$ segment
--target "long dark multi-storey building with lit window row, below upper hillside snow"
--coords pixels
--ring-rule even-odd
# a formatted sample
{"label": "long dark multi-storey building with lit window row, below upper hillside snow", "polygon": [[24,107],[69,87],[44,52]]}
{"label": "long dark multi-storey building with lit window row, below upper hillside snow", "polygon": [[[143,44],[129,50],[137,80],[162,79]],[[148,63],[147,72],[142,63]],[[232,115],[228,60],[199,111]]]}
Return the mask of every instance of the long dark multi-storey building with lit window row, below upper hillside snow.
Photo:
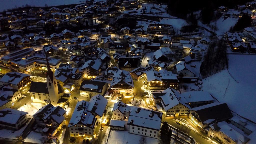
{"label": "long dark multi-storey building with lit window row, below upper hillside snow", "polygon": [[150,23],[147,27],[148,34],[170,35],[173,34],[173,26],[170,24]]}

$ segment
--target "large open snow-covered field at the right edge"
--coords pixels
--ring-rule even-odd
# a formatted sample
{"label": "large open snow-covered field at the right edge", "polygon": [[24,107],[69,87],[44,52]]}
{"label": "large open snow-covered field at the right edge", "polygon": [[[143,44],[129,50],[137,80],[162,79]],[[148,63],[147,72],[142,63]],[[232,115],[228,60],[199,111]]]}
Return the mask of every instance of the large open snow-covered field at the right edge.
{"label": "large open snow-covered field at the right edge", "polygon": [[228,70],[233,78],[228,70],[223,70],[203,79],[202,90],[208,91],[220,102],[226,102],[240,116],[256,122],[256,56],[230,54],[228,59]]}

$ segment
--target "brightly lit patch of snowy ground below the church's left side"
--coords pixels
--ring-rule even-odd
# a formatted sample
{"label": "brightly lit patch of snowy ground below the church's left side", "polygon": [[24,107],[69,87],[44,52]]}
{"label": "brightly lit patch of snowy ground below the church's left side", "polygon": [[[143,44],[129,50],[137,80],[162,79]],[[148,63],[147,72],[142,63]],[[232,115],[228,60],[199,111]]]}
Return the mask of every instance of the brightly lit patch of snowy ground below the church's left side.
{"label": "brightly lit patch of snowy ground below the church's left side", "polygon": [[28,112],[29,116],[33,116],[35,114],[35,112],[37,112],[43,106],[44,106],[43,104],[32,102],[30,104],[26,104],[26,105],[19,107],[18,110]]}

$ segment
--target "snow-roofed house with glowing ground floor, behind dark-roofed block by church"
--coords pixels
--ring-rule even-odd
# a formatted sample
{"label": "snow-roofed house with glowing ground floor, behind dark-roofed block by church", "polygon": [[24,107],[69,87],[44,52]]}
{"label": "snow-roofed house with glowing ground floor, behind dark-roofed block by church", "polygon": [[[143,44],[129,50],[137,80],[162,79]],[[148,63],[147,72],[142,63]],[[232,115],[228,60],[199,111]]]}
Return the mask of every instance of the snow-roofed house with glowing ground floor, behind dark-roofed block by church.
{"label": "snow-roofed house with glowing ground floor, behind dark-roofed block by church", "polygon": [[100,74],[101,64],[102,62],[100,59],[86,61],[84,65],[81,67],[83,75],[85,77],[96,77]]}

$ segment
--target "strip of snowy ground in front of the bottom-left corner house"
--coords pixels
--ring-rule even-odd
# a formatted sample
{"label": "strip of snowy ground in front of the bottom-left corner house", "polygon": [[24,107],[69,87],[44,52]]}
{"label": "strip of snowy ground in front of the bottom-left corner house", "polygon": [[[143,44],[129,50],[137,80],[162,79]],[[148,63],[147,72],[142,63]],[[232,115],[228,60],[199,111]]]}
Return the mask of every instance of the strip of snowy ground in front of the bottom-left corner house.
{"label": "strip of snowy ground in front of the bottom-left corner house", "polygon": [[17,131],[12,131],[12,130],[7,130],[7,129],[0,130],[0,137],[1,138],[6,138],[6,139],[17,140],[22,135],[23,131],[28,126],[28,124],[30,123],[30,121],[32,120],[33,117],[28,116],[28,118],[30,118],[30,120],[27,122],[27,124],[24,127],[17,130]]}

